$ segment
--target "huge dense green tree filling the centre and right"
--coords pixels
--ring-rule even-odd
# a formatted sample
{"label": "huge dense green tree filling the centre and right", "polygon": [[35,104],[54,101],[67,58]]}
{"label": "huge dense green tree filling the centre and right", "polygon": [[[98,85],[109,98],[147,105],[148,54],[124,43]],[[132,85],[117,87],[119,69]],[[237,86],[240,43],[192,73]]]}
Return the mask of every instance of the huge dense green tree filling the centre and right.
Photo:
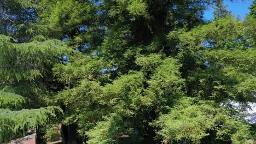
{"label": "huge dense green tree filling the centre and right", "polygon": [[[88,143],[123,142],[127,135],[135,142],[146,140],[147,135],[154,137],[154,133],[150,135],[153,128],[149,123],[167,114],[184,95],[213,100],[211,105],[226,104],[228,100],[245,104],[254,101],[250,94],[254,91],[254,79],[247,78],[254,75],[254,63],[248,62],[253,61],[255,53],[248,42],[252,38],[241,31],[246,29],[245,23],[228,16],[193,28],[196,21],[202,23],[200,11],[207,4],[210,3],[101,2],[99,19],[108,20],[100,25],[106,29],[102,44],[91,49],[90,56],[86,53],[54,68],[57,78],[67,86],[58,99],[66,103],[69,115],[63,122],[76,123],[79,135]],[[196,15],[191,20],[193,14]],[[176,20],[176,25],[167,23],[169,19]],[[239,58],[232,60],[234,56]],[[216,61],[219,57],[225,59]],[[243,64],[241,69],[245,71],[236,69],[236,63]],[[251,84],[244,87],[244,83]],[[231,115],[239,112],[231,108],[228,105],[219,111],[228,109],[232,114],[226,115],[226,119],[230,120]],[[219,119],[212,119],[212,123],[216,121]],[[230,121],[245,125],[242,131],[248,130],[241,117]],[[217,141],[216,129],[204,130],[213,131],[209,139]],[[196,141],[208,139],[205,136]],[[242,140],[247,138],[249,134]]]}

